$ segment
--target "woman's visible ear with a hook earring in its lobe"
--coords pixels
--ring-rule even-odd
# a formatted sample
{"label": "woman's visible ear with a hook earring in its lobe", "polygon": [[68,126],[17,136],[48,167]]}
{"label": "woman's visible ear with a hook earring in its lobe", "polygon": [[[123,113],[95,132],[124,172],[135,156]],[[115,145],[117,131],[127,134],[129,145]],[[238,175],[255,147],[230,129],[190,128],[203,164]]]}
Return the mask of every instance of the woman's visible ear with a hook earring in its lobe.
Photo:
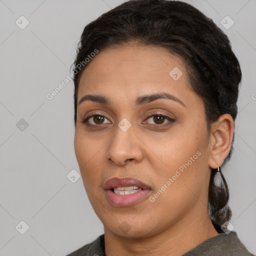
{"label": "woman's visible ear with a hook earring in its lobe", "polygon": [[234,134],[234,121],[230,114],[222,114],[211,124],[209,166],[221,166],[227,157]]}

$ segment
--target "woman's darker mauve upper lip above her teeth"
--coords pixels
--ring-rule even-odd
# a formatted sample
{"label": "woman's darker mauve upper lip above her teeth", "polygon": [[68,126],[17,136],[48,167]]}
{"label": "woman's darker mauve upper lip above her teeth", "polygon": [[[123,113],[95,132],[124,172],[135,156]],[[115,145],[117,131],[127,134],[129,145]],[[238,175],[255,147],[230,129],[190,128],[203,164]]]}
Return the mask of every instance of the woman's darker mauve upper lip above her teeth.
{"label": "woman's darker mauve upper lip above her teeth", "polygon": [[112,189],[116,187],[123,187],[123,186],[138,186],[142,189],[150,189],[149,186],[144,184],[142,181],[132,178],[132,177],[125,177],[125,178],[110,178],[105,182],[104,189]]}

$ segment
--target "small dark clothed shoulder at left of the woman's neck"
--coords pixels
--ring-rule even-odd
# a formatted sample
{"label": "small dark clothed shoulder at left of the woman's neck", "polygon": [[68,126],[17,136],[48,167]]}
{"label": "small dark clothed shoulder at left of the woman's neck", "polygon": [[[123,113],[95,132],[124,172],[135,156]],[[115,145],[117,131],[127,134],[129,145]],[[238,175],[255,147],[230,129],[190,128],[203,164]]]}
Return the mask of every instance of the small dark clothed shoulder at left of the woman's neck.
{"label": "small dark clothed shoulder at left of the woman's neck", "polygon": [[87,243],[66,256],[104,256],[104,234],[101,234],[93,242]]}

